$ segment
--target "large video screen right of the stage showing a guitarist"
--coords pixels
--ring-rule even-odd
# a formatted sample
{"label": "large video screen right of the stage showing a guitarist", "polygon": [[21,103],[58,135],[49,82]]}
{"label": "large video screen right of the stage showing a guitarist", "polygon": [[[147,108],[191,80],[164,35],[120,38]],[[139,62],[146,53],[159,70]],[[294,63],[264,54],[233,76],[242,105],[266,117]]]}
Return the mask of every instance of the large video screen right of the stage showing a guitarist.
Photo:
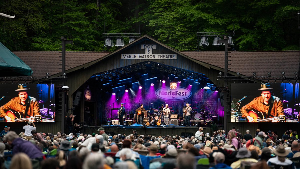
{"label": "large video screen right of the stage showing a guitarist", "polygon": [[231,122],[299,122],[299,83],[232,83]]}

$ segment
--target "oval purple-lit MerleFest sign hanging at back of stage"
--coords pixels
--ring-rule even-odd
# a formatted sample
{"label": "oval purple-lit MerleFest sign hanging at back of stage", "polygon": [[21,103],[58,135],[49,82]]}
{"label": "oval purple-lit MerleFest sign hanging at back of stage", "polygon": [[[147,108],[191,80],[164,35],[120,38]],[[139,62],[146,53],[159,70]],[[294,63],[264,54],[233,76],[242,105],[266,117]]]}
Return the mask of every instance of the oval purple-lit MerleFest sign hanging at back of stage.
{"label": "oval purple-lit MerleFest sign hanging at back of stage", "polygon": [[155,95],[164,100],[179,101],[189,98],[192,92],[184,87],[177,86],[177,89],[171,89],[170,86],[159,88],[155,91]]}

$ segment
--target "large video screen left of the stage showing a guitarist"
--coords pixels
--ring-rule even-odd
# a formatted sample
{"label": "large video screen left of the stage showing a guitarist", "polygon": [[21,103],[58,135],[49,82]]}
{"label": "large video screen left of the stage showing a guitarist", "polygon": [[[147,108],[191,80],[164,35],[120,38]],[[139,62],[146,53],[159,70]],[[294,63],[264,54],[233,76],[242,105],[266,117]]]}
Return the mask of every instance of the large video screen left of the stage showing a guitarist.
{"label": "large video screen left of the stage showing a guitarist", "polygon": [[54,122],[54,84],[0,84],[0,121]]}

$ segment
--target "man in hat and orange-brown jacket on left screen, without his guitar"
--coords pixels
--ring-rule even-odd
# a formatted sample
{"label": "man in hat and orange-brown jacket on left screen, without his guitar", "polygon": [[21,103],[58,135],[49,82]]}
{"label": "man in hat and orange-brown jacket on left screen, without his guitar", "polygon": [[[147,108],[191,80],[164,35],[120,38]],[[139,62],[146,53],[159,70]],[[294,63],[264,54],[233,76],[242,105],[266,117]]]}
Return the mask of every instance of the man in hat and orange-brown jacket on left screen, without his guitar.
{"label": "man in hat and orange-brown jacket on left screen, without his guitar", "polygon": [[26,87],[26,84],[19,84],[18,89],[16,89],[18,97],[11,99],[9,102],[0,107],[0,118],[5,118],[7,122],[12,121],[11,117],[9,117],[6,113],[7,110],[23,112],[24,115],[26,114],[26,117],[22,118],[30,118],[29,121],[31,122],[34,121],[33,116],[41,115],[38,100],[28,96],[27,90],[29,89]]}

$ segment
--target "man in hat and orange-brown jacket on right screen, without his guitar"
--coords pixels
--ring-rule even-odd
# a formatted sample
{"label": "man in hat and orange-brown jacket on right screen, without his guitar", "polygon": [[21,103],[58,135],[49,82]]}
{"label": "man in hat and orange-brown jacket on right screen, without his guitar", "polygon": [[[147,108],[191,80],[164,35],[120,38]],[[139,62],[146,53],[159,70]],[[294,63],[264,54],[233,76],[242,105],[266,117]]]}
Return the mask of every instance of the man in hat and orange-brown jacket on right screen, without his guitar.
{"label": "man in hat and orange-brown jacket on right screen, without his guitar", "polygon": [[[280,98],[272,96],[269,83],[262,83],[260,91],[261,96],[254,98],[253,101],[241,107],[242,117],[247,118],[249,122],[254,122],[254,118],[249,115],[249,110],[264,112],[266,118],[272,118],[272,122],[278,122],[277,117],[284,115],[283,103]],[[269,110],[270,109],[270,110]]]}

